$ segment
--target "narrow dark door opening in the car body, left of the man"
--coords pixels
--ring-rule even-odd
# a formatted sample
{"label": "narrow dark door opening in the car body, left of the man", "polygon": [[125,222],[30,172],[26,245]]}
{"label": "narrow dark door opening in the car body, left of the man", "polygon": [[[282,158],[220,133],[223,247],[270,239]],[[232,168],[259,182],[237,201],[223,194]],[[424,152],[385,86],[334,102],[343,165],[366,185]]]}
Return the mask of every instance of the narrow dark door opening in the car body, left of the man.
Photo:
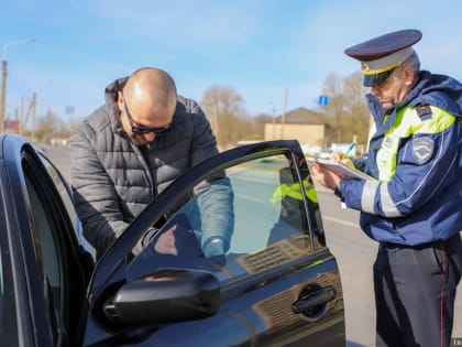
{"label": "narrow dark door opening in the car body, left of the man", "polygon": [[42,164],[43,159],[40,163],[34,154],[24,150],[23,193],[51,318],[47,325],[56,340],[67,341],[78,329],[88,284],[86,275],[90,275],[92,264],[88,252],[78,247],[74,237],[77,232],[69,219],[73,214],[69,216],[69,207],[64,206],[66,199],[72,202],[65,181],[53,165]]}

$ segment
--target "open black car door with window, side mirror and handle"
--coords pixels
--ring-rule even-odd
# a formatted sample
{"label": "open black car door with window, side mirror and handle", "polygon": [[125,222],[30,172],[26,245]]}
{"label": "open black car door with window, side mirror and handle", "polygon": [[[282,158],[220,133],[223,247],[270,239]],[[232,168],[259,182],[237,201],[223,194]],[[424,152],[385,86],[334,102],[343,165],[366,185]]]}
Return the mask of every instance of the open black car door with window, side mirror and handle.
{"label": "open black car door with window, side mirror and handle", "polygon": [[186,172],[108,250],[88,295],[82,345],[344,346],[339,269],[297,141]]}

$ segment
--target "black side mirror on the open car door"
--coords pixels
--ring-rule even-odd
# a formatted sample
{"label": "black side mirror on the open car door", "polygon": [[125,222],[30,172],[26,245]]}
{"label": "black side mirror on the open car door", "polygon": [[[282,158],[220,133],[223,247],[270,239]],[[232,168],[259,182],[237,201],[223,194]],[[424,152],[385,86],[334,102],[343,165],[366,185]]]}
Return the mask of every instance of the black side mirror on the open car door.
{"label": "black side mirror on the open car door", "polygon": [[220,282],[211,272],[164,269],[119,289],[106,316],[119,324],[170,323],[206,318],[220,308]]}

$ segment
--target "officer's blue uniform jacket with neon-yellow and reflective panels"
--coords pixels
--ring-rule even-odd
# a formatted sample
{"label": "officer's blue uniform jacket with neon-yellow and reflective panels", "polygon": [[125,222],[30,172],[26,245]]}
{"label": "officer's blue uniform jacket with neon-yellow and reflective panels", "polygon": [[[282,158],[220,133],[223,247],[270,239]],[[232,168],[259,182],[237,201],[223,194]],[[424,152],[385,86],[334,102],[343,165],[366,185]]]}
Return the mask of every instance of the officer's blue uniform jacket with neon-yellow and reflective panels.
{"label": "officer's blue uniform jacket with neon-yellow and reflective panels", "polygon": [[384,110],[367,96],[376,132],[364,171],[378,182],[342,180],[348,207],[373,239],[399,245],[446,240],[462,230],[462,85],[420,73],[404,101]]}

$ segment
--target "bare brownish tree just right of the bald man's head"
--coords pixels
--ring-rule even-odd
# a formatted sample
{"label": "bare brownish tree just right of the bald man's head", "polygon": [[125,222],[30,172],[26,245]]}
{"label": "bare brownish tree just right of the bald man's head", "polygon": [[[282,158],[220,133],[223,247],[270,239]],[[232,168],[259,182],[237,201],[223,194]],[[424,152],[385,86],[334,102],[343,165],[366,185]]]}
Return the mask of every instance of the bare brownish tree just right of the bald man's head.
{"label": "bare brownish tree just right of the bald man's head", "polygon": [[232,87],[211,86],[200,104],[221,149],[233,147],[253,133],[253,123],[243,108],[243,99]]}

